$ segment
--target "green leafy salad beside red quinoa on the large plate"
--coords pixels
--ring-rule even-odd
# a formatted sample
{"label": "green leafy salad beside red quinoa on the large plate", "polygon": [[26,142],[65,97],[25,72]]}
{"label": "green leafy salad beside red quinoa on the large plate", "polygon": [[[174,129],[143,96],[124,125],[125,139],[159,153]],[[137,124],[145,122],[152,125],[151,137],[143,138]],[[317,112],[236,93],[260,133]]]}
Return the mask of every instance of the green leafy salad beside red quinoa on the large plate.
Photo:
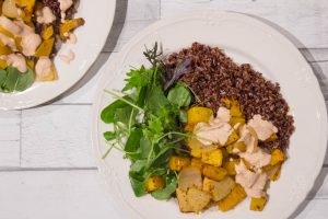
{"label": "green leafy salad beside red quinoa on the large plate", "polygon": [[105,107],[101,118],[113,125],[113,130],[104,132],[110,147],[120,150],[131,161],[129,177],[136,196],[147,194],[145,180],[160,175],[165,185],[152,192],[156,199],[168,199],[177,186],[176,173],[168,169],[173,154],[187,154],[183,132],[186,123],[185,108],[192,102],[192,92],[181,82],[165,85],[165,67],[161,61],[157,44],[147,49],[144,56],[150,68],[141,66],[131,69],[121,93],[105,91],[116,99]]}

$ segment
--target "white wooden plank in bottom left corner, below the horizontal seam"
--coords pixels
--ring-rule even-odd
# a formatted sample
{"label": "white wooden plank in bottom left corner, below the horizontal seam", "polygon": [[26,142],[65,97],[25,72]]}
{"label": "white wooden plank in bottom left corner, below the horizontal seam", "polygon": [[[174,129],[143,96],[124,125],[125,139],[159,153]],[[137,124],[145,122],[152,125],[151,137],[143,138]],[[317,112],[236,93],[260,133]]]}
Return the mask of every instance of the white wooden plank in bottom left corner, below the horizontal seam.
{"label": "white wooden plank in bottom left corner, below the horizontal seam", "polygon": [[119,218],[97,171],[0,173],[0,218]]}

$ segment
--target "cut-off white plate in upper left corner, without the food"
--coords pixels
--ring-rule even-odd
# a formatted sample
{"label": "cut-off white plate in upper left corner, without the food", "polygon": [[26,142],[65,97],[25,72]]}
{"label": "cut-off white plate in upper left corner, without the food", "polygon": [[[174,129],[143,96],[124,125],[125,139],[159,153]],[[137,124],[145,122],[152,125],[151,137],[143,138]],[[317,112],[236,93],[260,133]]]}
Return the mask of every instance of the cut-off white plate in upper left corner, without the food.
{"label": "cut-off white plate in upper left corner, without the food", "polygon": [[20,110],[46,103],[62,94],[74,85],[95,61],[107,39],[113,25],[116,0],[82,0],[75,18],[85,20],[84,26],[74,33],[78,36],[75,45],[65,44],[58,54],[67,54],[72,49],[75,59],[67,65],[58,57],[55,66],[58,80],[35,82],[24,92],[0,93],[0,110]]}

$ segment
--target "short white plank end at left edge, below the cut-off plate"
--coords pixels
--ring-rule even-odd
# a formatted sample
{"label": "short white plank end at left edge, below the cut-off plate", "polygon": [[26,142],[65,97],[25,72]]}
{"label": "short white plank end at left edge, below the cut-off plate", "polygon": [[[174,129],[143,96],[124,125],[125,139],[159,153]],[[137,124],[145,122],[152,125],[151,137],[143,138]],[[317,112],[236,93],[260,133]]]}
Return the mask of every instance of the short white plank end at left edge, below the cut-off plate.
{"label": "short white plank end at left edge, below the cut-off plate", "polygon": [[21,112],[0,111],[0,168],[20,166]]}

